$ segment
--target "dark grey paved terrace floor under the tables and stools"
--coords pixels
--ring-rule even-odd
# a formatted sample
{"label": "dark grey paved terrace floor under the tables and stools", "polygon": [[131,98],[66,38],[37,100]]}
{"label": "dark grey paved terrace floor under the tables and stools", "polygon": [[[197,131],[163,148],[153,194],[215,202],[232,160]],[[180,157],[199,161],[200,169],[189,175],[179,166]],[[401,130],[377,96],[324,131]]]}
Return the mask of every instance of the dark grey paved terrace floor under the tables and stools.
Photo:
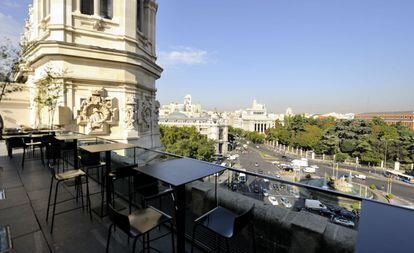
{"label": "dark grey paved terrace floor under the tables and stools", "polygon": [[[6,153],[5,143],[0,141],[0,190],[5,189],[6,199],[0,200],[0,227],[10,226],[13,248],[10,252],[105,252],[106,238],[110,222],[93,215],[93,221],[82,209],[67,212],[55,217],[53,235],[50,234],[50,219],[46,223],[47,200],[51,175],[43,167],[39,154],[27,159],[21,169],[21,152],[15,151],[13,159]],[[90,183],[90,191],[96,192],[99,186]],[[72,198],[74,187],[60,184],[58,201]],[[92,207],[100,204],[100,195],[91,196]],[[68,201],[57,206],[57,212],[71,209],[76,202]],[[164,228],[162,229],[164,230]],[[155,229],[151,237],[163,233]],[[131,241],[132,242],[132,241]],[[172,252],[170,236],[152,242],[151,246],[161,252]],[[142,249],[138,243],[137,252]],[[187,245],[190,249],[190,245]],[[127,236],[117,230],[112,234],[110,252],[131,252],[132,243]]]}

